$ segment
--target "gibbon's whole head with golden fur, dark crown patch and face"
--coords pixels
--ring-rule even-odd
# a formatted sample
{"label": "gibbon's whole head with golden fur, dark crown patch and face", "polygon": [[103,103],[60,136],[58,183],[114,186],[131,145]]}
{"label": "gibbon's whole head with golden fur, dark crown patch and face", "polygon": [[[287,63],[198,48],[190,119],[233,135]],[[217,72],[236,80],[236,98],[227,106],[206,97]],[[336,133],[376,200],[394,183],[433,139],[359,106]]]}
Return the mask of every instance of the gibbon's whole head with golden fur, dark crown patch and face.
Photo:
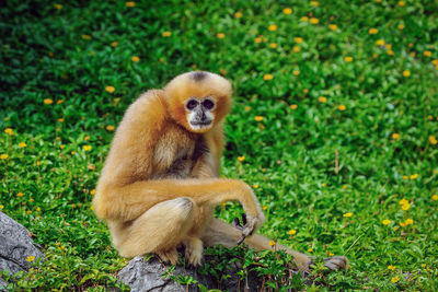
{"label": "gibbon's whole head with golden fur, dark crown patch and face", "polygon": [[192,132],[206,132],[223,119],[231,108],[231,84],[205,71],[175,77],[164,86],[172,118]]}

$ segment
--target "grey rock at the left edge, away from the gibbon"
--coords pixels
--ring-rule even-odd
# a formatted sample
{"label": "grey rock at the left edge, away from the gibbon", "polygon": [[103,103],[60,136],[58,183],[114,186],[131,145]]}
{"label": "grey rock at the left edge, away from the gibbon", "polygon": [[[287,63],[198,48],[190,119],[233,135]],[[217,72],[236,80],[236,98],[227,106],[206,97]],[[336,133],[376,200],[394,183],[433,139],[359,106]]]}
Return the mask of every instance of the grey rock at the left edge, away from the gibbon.
{"label": "grey rock at the left edge, away from the gibbon", "polygon": [[[43,253],[33,244],[28,231],[13,219],[0,212],[0,271],[14,275],[18,271],[27,271],[31,262],[26,259],[33,256],[34,261],[44,257]],[[0,290],[4,287],[0,279]]]}

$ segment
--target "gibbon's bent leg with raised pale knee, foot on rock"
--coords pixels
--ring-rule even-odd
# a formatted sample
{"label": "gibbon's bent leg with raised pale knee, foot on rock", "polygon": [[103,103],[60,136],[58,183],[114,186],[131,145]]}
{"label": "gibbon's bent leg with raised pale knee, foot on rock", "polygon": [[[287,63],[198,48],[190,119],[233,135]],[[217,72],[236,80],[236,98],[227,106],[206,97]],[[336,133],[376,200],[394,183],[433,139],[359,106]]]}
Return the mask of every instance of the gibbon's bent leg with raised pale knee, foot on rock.
{"label": "gibbon's bent leg with raised pale knee, foot on rock", "polygon": [[[175,265],[176,246],[186,238],[195,209],[192,199],[177,198],[157,203],[130,223],[110,221],[113,245],[124,257],[155,253]],[[189,243],[196,245],[195,240]]]}

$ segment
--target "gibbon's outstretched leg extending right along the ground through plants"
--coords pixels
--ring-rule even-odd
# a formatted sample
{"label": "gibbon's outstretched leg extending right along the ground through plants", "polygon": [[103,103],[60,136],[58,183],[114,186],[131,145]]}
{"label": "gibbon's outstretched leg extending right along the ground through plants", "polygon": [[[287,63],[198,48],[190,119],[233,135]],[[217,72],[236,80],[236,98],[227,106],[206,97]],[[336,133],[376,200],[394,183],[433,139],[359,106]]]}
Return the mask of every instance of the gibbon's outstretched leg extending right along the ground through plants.
{"label": "gibbon's outstretched leg extending right along the ground through plants", "polygon": [[[206,246],[214,246],[216,244],[221,244],[226,247],[234,247],[242,232],[237,227],[219,220],[214,219],[211,223],[205,230],[201,240]],[[275,247],[269,245],[269,238],[262,236],[260,234],[254,234],[251,237],[246,237],[245,243],[254,249],[269,249],[278,250],[283,249],[286,253],[293,256],[293,261],[300,270],[307,270],[309,265],[312,264],[312,257],[301,254],[299,252],[292,250],[284,245],[276,244]],[[345,257],[332,257],[325,259],[325,266],[332,270],[345,269],[348,267],[348,261]]]}

